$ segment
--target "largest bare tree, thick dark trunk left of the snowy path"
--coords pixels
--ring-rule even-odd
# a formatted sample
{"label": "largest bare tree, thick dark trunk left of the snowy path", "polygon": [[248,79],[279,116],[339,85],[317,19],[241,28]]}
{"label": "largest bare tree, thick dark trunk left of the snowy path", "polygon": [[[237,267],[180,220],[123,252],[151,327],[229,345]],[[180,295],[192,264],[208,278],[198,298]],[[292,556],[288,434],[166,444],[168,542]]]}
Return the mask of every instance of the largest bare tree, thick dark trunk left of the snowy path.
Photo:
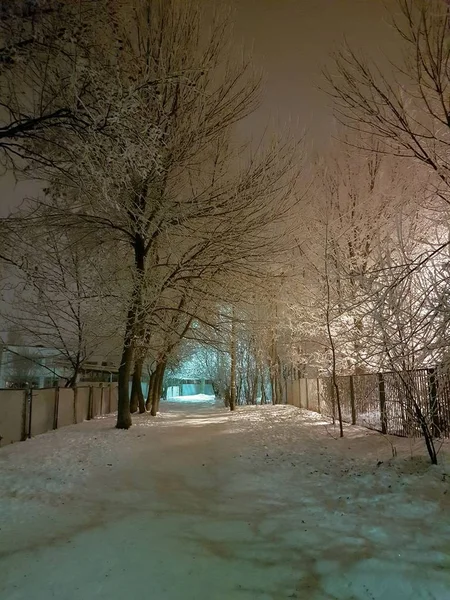
{"label": "largest bare tree, thick dark trunk left of the snowy path", "polygon": [[69,178],[54,174],[47,213],[56,225],[63,217],[66,225],[103,231],[129,266],[122,428],[131,424],[128,381],[141,321],[162,291],[218,271],[251,271],[268,245],[264,228],[274,231],[293,202],[287,149],[272,145],[244,161],[229,141],[231,126],[255,105],[258,83],[245,63],[224,60],[227,21],[217,19],[204,36],[195,4],[134,6],[126,15],[111,9],[110,37],[102,39],[106,47],[122,44],[109,78],[107,68],[90,71],[108,99],[108,123],[88,138],[71,135],[77,159]]}

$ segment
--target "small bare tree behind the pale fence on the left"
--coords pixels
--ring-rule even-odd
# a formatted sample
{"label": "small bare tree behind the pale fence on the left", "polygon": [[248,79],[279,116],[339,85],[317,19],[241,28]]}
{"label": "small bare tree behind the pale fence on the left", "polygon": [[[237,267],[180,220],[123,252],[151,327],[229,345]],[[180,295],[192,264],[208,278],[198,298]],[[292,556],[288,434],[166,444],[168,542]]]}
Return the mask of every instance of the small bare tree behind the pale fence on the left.
{"label": "small bare tree behind the pale fence on the left", "polygon": [[20,264],[11,271],[3,318],[29,345],[53,349],[54,359],[70,369],[67,386],[73,387],[92,356],[117,353],[110,257],[64,230],[21,227],[20,233]]}

